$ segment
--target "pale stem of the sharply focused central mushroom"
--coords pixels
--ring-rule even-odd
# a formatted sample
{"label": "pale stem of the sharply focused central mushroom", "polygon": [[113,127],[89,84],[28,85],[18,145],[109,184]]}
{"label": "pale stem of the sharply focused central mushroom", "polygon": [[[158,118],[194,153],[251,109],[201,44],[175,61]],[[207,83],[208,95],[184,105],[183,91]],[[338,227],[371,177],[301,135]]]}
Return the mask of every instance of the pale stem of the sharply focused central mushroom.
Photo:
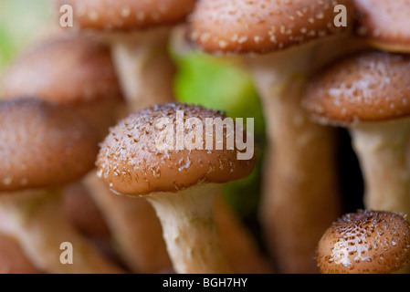
{"label": "pale stem of the sharply focused central mushroom", "polygon": [[220,184],[205,183],[178,193],[148,196],[163,224],[163,238],[176,273],[232,273],[221,248],[214,216],[220,188]]}

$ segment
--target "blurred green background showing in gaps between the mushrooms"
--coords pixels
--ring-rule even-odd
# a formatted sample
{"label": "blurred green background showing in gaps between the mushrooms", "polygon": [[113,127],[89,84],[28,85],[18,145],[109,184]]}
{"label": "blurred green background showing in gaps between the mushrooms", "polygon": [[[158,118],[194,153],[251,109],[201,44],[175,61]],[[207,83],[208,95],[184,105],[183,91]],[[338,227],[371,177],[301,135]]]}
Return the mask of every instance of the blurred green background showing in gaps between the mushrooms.
{"label": "blurred green background showing in gaps between the mushrooms", "polygon": [[[18,54],[57,17],[52,0],[0,0],[0,77]],[[54,24],[53,24],[54,25]],[[179,100],[225,110],[232,118],[255,118],[258,166],[245,180],[226,186],[226,197],[244,220],[256,219],[260,193],[265,125],[258,94],[247,73],[236,61],[199,52],[173,52],[178,65],[175,91]]]}

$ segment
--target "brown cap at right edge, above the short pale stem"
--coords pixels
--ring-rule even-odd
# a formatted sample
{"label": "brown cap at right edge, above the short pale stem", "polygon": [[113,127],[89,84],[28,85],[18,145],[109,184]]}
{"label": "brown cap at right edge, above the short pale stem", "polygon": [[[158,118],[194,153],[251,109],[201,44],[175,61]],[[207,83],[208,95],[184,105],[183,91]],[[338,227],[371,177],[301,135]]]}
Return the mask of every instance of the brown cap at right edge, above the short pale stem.
{"label": "brown cap at right edge, above the short pale stem", "polygon": [[325,123],[394,120],[410,115],[410,56],[362,52],[313,78],[304,104]]}

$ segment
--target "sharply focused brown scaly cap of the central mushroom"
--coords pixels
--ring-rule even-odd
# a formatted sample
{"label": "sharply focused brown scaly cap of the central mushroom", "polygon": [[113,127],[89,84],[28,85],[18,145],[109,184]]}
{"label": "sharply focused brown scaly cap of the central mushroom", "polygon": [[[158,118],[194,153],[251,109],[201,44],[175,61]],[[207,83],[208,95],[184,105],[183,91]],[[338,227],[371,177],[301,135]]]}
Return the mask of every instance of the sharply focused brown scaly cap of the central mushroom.
{"label": "sharply focused brown scaly cap of the central mushroom", "polygon": [[[168,103],[121,120],[102,142],[97,159],[99,175],[113,191],[130,195],[177,192],[197,183],[230,182],[252,172],[255,155],[251,160],[237,160],[237,150],[226,147],[213,151],[205,150],[205,146],[204,150],[159,150],[156,140],[163,129],[157,129],[157,121],[169,118],[175,125],[178,110],[184,111],[184,121],[189,118],[203,121],[204,135],[206,118],[225,118],[218,111],[200,106]],[[175,133],[176,127],[173,128]],[[185,129],[185,137],[193,129]]]}

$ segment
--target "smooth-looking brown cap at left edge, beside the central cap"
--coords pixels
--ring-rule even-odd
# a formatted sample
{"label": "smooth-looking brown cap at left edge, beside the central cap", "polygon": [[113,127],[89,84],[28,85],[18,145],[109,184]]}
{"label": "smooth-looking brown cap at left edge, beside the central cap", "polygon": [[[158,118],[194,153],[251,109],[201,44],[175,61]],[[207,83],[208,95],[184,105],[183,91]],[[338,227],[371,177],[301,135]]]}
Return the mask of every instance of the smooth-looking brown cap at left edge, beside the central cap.
{"label": "smooth-looking brown cap at left edge, beside the central cap", "polygon": [[38,99],[0,102],[0,192],[74,182],[97,152],[94,128],[76,112]]}

